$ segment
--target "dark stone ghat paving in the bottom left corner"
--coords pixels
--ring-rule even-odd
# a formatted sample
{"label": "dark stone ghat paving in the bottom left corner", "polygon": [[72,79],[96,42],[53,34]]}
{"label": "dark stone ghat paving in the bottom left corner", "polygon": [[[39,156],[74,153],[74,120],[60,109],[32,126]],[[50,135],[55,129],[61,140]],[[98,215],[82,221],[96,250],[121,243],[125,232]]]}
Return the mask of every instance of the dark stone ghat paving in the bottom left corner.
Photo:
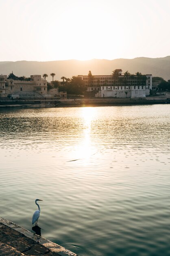
{"label": "dark stone ghat paving in the bottom left corner", "polygon": [[0,218],[0,256],[77,256],[13,222]]}

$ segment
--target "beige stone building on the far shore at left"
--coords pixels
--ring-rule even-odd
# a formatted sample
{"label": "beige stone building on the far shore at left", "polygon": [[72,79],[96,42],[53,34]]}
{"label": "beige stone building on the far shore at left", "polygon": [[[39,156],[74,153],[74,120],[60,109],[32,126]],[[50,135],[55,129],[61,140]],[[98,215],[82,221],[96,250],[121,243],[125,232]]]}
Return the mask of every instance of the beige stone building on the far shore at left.
{"label": "beige stone building on the far shore at left", "polygon": [[39,97],[47,94],[47,81],[41,75],[32,75],[29,81],[19,80],[13,72],[8,77],[0,75],[0,97],[20,97],[29,93]]}

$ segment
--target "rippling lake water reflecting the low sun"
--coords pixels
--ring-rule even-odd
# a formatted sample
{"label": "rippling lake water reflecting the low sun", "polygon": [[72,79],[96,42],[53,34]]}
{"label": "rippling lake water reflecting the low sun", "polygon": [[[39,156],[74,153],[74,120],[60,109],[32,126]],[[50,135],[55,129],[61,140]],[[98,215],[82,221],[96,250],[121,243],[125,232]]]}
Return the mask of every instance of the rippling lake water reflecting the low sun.
{"label": "rippling lake water reflecting the low sun", "polygon": [[170,105],[0,109],[0,216],[81,256],[170,255]]}

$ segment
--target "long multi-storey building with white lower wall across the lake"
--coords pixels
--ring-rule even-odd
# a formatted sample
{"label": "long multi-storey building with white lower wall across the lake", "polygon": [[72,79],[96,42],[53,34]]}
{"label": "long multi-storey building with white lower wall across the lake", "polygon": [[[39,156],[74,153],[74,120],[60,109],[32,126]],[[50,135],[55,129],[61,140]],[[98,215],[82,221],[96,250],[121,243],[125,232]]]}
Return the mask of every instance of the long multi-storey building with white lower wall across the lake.
{"label": "long multi-storey building with white lower wall across the lake", "polygon": [[[115,97],[115,98],[135,98],[146,97],[152,89],[152,75],[142,75],[137,73],[123,74],[122,70],[117,70],[118,76],[95,75],[89,84],[88,75],[78,75],[85,83],[87,91],[98,91],[95,97]],[[93,83],[93,85],[92,85]]]}

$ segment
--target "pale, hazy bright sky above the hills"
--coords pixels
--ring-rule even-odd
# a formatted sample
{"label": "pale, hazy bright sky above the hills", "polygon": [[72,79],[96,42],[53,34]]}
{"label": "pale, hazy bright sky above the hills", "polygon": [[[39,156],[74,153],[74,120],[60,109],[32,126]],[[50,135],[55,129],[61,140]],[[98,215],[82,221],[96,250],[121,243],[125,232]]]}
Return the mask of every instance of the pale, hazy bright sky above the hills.
{"label": "pale, hazy bright sky above the hills", "polygon": [[0,61],[170,55],[170,0],[0,0]]}

